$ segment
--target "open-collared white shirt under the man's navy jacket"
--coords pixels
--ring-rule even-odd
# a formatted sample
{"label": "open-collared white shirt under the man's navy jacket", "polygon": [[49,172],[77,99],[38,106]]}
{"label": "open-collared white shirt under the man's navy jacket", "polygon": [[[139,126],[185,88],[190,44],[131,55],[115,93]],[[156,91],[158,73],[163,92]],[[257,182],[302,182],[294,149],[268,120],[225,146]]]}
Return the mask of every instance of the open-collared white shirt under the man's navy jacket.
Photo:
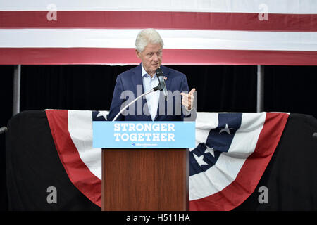
{"label": "open-collared white shirt under the man's navy jacket", "polygon": [[[159,85],[159,79],[156,78],[156,74],[154,74],[153,77],[147,74],[147,71],[144,70],[143,68],[143,63],[142,65],[142,81],[143,81],[143,88],[144,88],[144,93],[153,89],[154,87]],[[147,106],[149,108],[149,113],[151,115],[152,120],[154,121],[156,113],[157,113],[157,108],[159,107],[159,99],[160,99],[160,91],[154,91],[151,92],[150,94],[147,94],[145,96],[147,99]]]}

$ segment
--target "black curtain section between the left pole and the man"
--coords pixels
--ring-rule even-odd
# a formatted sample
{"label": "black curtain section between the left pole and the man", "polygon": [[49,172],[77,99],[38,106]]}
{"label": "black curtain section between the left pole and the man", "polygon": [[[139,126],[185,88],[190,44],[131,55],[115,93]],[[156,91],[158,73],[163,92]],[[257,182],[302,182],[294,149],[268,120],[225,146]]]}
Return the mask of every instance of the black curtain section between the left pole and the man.
{"label": "black curtain section between the left pole and the man", "polygon": [[132,68],[109,65],[23,65],[21,111],[108,110],[116,74]]}

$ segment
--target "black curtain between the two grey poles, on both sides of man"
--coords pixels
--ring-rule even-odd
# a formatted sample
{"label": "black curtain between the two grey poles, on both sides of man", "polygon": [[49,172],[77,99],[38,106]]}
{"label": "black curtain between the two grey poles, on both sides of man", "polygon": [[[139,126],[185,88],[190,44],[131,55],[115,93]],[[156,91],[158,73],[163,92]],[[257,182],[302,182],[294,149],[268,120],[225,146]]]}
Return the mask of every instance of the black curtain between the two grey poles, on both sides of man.
{"label": "black curtain between the two grey poles, on both sides of man", "polygon": [[[23,65],[21,110],[109,110],[116,77],[134,65]],[[197,110],[255,112],[256,66],[170,65],[197,89]]]}

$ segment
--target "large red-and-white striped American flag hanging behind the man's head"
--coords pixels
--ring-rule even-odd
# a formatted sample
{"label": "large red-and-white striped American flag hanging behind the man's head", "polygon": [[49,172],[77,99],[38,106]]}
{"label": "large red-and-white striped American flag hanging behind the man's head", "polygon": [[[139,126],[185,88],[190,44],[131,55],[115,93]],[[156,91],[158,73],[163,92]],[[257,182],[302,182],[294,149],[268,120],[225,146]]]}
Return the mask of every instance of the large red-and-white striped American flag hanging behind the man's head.
{"label": "large red-and-white striped American flag hanging behind the man's head", "polygon": [[1,0],[0,64],[137,64],[149,27],[163,64],[317,64],[315,0]]}

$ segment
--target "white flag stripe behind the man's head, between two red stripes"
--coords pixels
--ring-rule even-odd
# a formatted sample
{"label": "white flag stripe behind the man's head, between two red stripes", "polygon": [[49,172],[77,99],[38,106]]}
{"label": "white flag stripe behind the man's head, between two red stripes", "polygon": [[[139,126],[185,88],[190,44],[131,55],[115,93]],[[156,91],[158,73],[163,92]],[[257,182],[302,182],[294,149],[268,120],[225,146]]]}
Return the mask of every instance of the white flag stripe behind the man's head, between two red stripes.
{"label": "white flag stripe behind the man's head, between two red stripes", "polygon": [[[158,30],[165,49],[317,51],[317,32]],[[139,30],[0,29],[1,48],[135,48]]]}

